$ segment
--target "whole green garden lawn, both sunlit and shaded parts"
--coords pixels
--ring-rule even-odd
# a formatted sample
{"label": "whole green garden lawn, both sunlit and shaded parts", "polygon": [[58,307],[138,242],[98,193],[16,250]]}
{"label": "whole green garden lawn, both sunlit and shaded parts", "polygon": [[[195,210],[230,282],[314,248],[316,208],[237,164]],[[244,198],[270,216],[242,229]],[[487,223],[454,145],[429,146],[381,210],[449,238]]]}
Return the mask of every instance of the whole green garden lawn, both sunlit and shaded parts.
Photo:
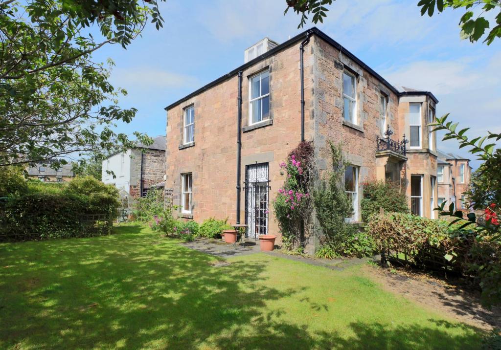
{"label": "whole green garden lawn, both sunlit and shaded parts", "polygon": [[141,226],[0,244],[0,348],[478,348],[481,333],[339,272],[215,258]]}

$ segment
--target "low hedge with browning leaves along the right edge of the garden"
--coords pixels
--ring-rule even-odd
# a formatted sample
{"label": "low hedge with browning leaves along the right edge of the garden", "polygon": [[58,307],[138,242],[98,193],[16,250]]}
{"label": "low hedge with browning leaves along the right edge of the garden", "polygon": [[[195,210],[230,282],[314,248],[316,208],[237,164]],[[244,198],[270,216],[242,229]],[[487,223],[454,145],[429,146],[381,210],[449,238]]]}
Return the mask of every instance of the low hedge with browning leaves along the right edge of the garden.
{"label": "low hedge with browning leaves along the right edge of the garden", "polygon": [[403,253],[425,269],[460,272],[481,288],[486,305],[501,304],[501,247],[461,224],[389,213],[372,215],[366,230],[379,251]]}

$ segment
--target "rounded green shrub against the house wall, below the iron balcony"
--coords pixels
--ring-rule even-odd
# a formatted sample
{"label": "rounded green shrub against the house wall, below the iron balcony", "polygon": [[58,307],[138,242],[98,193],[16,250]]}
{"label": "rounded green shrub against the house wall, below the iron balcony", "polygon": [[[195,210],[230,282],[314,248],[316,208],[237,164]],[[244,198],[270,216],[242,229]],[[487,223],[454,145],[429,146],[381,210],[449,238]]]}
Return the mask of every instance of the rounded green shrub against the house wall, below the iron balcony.
{"label": "rounded green shrub against the house wall, below the iron balcony", "polygon": [[389,213],[408,213],[407,196],[397,183],[372,181],[364,184],[364,197],[360,201],[362,219],[367,221],[371,214],[383,208]]}

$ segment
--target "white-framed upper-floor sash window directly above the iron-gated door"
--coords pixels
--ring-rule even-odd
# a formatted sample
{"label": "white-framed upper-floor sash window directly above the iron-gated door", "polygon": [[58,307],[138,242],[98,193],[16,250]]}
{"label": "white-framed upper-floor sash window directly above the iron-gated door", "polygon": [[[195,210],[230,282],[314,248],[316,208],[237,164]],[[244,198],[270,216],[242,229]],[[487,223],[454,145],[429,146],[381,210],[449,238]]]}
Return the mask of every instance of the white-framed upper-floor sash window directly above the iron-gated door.
{"label": "white-framed upper-floor sash window directly above the iron-gated door", "polygon": [[249,79],[249,125],[270,119],[270,72]]}

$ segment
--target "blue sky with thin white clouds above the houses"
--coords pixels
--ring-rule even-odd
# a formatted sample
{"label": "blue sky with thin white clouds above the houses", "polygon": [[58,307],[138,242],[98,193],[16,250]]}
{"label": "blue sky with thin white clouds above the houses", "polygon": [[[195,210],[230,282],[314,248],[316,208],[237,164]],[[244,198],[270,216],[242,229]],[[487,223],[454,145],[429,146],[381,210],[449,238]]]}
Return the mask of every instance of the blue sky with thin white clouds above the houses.
{"label": "blue sky with thin white clouds above the houses", "polygon": [[[285,0],[159,3],[163,29],[148,26],[127,50],[107,46],[94,55],[99,62],[113,59],[111,82],[128,91],[120,105],[138,109],[130,124],[117,125],[119,132],[164,135],[165,106],[241,65],[243,51],[264,37],[282,43],[313,26],[298,30],[299,16],[283,15]],[[317,27],[390,83],[433,92],[437,114],[450,113],[470,128],[467,135],[501,132],[501,40],[462,41],[462,10],[421,17],[416,4],[337,0]],[[455,141],[438,147],[468,157]]]}

